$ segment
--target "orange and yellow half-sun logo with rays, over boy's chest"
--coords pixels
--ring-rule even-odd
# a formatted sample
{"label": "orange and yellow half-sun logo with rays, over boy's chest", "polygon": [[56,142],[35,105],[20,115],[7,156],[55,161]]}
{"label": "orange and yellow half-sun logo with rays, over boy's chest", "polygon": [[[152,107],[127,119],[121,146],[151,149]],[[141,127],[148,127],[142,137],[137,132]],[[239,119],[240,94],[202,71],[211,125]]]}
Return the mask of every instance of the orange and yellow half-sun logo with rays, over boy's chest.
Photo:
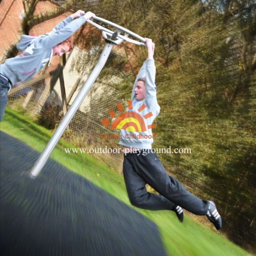
{"label": "orange and yellow half-sun logo with rays, over boy's chest", "polygon": [[[128,109],[132,110],[133,109],[133,103],[132,100],[128,100]],[[118,111],[121,112],[123,110],[123,107],[121,105],[121,103],[118,103],[117,105]],[[144,110],[146,108],[146,105],[143,104],[138,111],[141,112],[142,110]],[[109,111],[110,116],[113,118],[116,114],[114,113],[114,111],[110,110]],[[129,132],[145,132],[146,131],[146,125],[144,122],[144,119],[150,118],[152,117],[153,114],[152,112],[147,113],[146,115],[144,115],[143,117],[136,113],[136,112],[125,112],[120,114],[115,120],[114,122],[111,124],[110,126],[110,130],[112,129],[122,129],[122,130],[126,130]],[[144,119],[143,119],[144,118]],[[101,123],[103,123],[106,127],[108,127],[110,121],[106,118],[103,118],[101,120]],[[147,125],[147,129],[153,129],[155,128],[155,124],[150,124]]]}

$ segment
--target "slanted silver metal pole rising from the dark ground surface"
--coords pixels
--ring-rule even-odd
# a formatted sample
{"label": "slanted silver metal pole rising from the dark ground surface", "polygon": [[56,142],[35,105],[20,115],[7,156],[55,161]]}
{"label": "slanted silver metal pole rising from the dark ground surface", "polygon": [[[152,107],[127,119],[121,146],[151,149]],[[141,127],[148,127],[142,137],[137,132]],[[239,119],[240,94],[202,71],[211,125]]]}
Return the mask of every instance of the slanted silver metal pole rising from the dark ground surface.
{"label": "slanted silver metal pole rising from the dark ground surface", "polygon": [[106,60],[108,59],[111,50],[113,48],[114,44],[111,42],[106,42],[104,49],[102,50],[99,60],[97,64],[95,65],[92,73],[88,77],[87,81],[84,83],[81,91],[76,96],[74,102],[72,103],[69,111],[63,117],[62,121],[60,122],[59,126],[57,127],[55,133],[53,134],[52,138],[46,145],[44,151],[39,156],[38,160],[34,164],[34,166],[31,169],[30,177],[35,178],[41,169],[45,166],[50,154],[52,153],[55,145],[57,144],[58,140],[60,139],[63,132],[66,130],[67,126],[69,125],[72,117],[75,115],[76,111],[78,110],[79,106],[81,105],[83,99],[88,94],[90,88],[92,87],[93,83],[95,82],[96,78],[98,77],[100,71],[103,69]]}

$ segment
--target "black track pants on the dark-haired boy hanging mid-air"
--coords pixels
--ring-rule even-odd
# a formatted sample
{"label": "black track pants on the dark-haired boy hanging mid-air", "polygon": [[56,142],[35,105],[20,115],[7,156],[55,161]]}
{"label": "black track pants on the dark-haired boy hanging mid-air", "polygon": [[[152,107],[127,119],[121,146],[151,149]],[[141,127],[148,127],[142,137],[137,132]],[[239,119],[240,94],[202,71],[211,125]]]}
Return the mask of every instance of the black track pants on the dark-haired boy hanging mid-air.
{"label": "black track pants on the dark-haired boy hanging mid-air", "polygon": [[[171,210],[173,206],[196,215],[206,215],[208,202],[190,194],[179,181],[165,172],[155,153],[124,155],[123,176],[131,204],[148,210]],[[148,193],[145,185],[153,187],[160,195]]]}

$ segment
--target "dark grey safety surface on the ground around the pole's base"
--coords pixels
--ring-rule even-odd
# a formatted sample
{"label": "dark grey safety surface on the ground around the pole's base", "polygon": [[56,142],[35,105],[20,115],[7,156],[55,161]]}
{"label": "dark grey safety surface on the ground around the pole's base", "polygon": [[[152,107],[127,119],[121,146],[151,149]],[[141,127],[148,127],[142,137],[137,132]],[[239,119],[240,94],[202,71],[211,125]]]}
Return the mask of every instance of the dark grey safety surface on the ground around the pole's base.
{"label": "dark grey safety surface on the ground around the pole's base", "polygon": [[0,132],[1,255],[166,255],[157,226],[104,190]]}

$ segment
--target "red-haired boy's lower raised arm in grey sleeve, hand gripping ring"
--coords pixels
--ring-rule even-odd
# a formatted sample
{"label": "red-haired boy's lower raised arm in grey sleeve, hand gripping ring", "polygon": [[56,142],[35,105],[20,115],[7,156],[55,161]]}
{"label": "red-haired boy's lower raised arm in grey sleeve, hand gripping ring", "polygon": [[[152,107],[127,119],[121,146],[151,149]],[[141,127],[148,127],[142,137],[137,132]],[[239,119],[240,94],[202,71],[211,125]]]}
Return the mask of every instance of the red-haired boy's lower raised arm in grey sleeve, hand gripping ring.
{"label": "red-haired boy's lower raised arm in grey sleeve, hand gripping ring", "polygon": [[[69,38],[73,33],[75,33],[83,25],[83,23],[86,22],[87,19],[90,19],[93,16],[95,16],[95,14],[92,12],[87,12],[84,16],[81,16],[81,14],[84,13],[83,11],[78,11],[78,12],[71,14],[71,16],[69,16],[65,20],[62,20],[62,22],[66,23],[67,19],[70,19],[70,18],[72,19],[72,17],[74,18],[78,17],[78,18],[74,20],[72,19],[72,21],[67,23],[65,27],[59,30],[53,31],[53,33],[50,33],[48,36],[42,38],[41,39],[42,46],[44,46],[46,49],[53,48],[54,46],[60,44],[62,41],[65,41],[67,38]],[[59,26],[59,24],[57,26]],[[54,28],[56,28],[56,26]]]}

